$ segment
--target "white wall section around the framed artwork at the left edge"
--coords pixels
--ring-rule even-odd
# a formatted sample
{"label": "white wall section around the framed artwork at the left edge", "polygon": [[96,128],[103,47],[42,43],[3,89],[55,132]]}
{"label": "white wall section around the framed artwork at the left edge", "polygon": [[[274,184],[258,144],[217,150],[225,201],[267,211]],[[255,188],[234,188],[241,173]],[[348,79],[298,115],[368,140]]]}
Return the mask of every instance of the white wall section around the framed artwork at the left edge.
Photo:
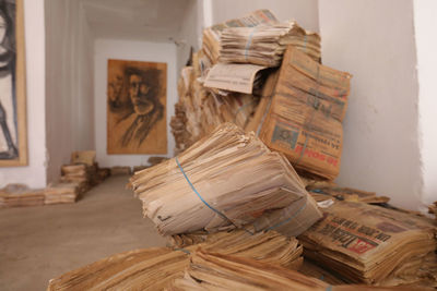
{"label": "white wall section around the framed artwork at the left edge", "polygon": [[24,183],[46,186],[45,27],[40,1],[24,0],[28,166],[1,168],[0,187]]}

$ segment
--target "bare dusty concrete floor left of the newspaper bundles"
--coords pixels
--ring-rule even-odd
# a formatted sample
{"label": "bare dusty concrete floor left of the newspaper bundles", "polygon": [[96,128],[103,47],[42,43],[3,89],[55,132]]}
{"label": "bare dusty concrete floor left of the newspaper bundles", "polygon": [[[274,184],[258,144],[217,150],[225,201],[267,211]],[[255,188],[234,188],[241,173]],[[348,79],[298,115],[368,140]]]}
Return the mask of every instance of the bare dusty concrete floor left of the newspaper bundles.
{"label": "bare dusty concrete floor left of the newspaper bundles", "polygon": [[105,256],[164,246],[127,182],[111,177],[76,204],[0,209],[0,290],[46,290],[49,279]]}

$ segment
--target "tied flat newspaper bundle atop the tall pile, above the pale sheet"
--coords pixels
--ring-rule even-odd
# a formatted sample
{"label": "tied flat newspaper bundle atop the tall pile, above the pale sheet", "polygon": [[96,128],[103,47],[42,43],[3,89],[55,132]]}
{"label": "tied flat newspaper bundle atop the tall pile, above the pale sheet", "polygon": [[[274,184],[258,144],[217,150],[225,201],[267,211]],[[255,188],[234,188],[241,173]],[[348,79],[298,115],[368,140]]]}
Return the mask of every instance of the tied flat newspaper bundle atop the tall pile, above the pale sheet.
{"label": "tied flat newspaper bundle atop the tall pile, above the pale sheet", "polygon": [[293,45],[315,61],[320,60],[319,35],[307,33],[292,21],[224,29],[221,37],[220,61],[279,66],[287,45]]}

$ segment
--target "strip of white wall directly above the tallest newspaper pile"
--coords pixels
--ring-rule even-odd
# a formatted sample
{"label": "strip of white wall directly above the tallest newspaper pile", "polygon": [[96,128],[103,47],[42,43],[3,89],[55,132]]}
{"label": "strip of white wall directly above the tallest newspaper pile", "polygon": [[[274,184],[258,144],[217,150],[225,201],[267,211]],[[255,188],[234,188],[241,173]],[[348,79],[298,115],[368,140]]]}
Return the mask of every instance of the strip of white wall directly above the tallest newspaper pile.
{"label": "strip of white wall directly above the tallest newspaper pile", "polygon": [[[280,21],[296,20],[305,29],[318,32],[317,0],[210,0],[212,22],[237,19],[258,9],[270,9]],[[209,1],[208,1],[209,2]]]}

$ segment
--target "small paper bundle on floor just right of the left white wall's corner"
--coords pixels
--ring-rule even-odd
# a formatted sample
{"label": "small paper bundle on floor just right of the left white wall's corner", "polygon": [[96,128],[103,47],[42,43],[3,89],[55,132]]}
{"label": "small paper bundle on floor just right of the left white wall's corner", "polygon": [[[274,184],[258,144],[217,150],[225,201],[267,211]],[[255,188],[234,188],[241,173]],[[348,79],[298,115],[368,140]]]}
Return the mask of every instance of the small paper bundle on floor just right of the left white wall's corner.
{"label": "small paper bundle on floor just right of the left white wall's corner", "polygon": [[45,204],[75,203],[80,195],[80,183],[50,184],[44,191]]}

